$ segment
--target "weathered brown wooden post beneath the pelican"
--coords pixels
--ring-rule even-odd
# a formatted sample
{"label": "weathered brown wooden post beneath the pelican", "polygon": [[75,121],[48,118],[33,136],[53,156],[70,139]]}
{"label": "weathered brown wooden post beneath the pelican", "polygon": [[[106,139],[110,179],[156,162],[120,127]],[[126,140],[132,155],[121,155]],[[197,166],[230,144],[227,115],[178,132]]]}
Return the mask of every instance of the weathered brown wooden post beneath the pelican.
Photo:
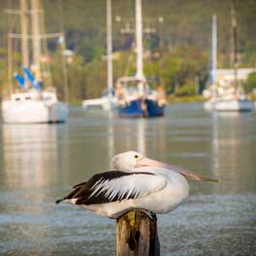
{"label": "weathered brown wooden post beneath the pelican", "polygon": [[116,220],[117,256],[158,256],[156,216],[149,218],[143,211],[128,211]]}

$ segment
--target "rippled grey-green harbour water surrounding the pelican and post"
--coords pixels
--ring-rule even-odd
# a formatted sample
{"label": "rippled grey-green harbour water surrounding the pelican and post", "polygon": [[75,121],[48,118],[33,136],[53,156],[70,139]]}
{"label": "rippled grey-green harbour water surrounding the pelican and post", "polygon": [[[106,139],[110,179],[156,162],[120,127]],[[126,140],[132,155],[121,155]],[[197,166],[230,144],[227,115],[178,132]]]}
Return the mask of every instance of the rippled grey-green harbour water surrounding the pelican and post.
{"label": "rippled grey-green harbour water surrounding the pelican and post", "polygon": [[71,110],[65,125],[0,126],[0,255],[114,255],[114,221],[54,201],[139,150],[219,184],[159,215],[162,255],[252,255],[256,234],[256,115],[176,104],[164,118],[118,119]]}

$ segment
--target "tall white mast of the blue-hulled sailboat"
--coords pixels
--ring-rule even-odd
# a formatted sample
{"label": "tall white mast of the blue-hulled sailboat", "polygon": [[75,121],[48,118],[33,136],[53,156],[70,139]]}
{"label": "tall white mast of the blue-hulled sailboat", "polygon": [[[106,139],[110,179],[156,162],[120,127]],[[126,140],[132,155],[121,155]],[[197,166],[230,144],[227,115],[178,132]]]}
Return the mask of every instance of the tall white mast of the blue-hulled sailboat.
{"label": "tall white mast of the blue-hulled sailboat", "polygon": [[137,74],[140,80],[138,89],[140,96],[144,95],[144,60],[143,60],[143,14],[142,0],[136,0],[136,47],[137,47]]}

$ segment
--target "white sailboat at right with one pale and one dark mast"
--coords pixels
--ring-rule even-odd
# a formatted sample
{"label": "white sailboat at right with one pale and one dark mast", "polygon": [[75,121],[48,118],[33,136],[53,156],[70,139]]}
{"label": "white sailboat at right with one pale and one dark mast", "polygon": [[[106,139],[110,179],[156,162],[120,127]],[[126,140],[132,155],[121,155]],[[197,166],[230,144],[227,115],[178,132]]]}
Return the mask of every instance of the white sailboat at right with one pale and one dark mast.
{"label": "white sailboat at right with one pale and one dark mast", "polygon": [[236,0],[233,0],[232,8],[232,32],[233,32],[233,80],[218,82],[216,80],[216,16],[212,17],[212,56],[211,56],[211,81],[208,92],[208,101],[204,107],[207,111],[217,112],[250,112],[254,109],[252,101],[248,100],[239,85],[238,52],[237,52],[237,18]]}

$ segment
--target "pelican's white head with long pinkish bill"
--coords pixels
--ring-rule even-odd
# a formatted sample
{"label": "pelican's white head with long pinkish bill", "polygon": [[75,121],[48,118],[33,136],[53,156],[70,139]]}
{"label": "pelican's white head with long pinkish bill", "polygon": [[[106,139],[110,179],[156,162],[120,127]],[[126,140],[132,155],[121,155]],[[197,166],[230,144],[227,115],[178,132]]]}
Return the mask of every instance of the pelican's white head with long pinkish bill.
{"label": "pelican's white head with long pinkish bill", "polygon": [[191,178],[199,181],[218,182],[217,179],[200,176],[198,174],[183,170],[179,167],[171,166],[169,164],[150,159],[136,151],[127,151],[117,154],[112,158],[112,163],[113,167],[116,170],[123,172],[135,172],[137,168],[141,167],[158,167],[168,169],[172,172],[176,172],[182,176],[185,176],[186,178]]}

